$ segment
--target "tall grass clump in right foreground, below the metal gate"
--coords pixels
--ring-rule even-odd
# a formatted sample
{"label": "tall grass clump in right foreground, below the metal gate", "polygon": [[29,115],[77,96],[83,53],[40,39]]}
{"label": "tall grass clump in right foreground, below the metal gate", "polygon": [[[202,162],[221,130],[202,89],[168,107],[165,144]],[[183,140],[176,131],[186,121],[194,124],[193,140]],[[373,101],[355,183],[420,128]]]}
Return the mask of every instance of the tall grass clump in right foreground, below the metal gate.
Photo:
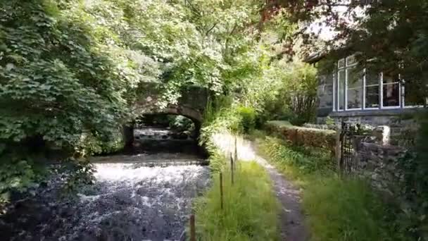
{"label": "tall grass clump in right foreground, below the metal gate", "polygon": [[318,177],[303,192],[313,240],[401,240],[386,204],[363,180]]}

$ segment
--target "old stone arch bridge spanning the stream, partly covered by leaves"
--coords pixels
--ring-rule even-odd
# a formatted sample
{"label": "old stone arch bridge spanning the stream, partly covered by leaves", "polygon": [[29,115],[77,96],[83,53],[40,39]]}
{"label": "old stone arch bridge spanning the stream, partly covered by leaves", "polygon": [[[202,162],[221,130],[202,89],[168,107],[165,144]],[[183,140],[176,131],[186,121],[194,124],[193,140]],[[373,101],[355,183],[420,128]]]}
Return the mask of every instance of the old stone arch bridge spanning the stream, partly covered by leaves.
{"label": "old stone arch bridge spanning the stream, partly covered by leaves", "polygon": [[[142,116],[146,114],[165,113],[180,115],[189,118],[194,122],[196,132],[199,132],[202,123],[203,111],[208,103],[208,89],[199,86],[189,86],[182,89],[180,98],[175,104],[168,104],[160,107],[160,89],[157,83],[148,83],[141,91],[132,106],[132,116]],[[123,140],[125,147],[132,146],[134,141],[134,120],[123,126]]]}

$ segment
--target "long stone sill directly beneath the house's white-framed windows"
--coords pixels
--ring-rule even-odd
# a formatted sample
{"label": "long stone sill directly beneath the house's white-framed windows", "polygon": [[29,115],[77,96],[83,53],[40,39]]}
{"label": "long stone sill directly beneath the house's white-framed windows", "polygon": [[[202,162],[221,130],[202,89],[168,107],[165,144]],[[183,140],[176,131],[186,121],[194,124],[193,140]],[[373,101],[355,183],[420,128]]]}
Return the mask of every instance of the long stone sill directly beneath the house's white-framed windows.
{"label": "long stone sill directly beneath the house's white-framed windows", "polygon": [[382,110],[357,110],[357,111],[334,111],[331,117],[354,117],[354,116],[398,116],[416,113],[419,108],[409,109],[382,109]]}

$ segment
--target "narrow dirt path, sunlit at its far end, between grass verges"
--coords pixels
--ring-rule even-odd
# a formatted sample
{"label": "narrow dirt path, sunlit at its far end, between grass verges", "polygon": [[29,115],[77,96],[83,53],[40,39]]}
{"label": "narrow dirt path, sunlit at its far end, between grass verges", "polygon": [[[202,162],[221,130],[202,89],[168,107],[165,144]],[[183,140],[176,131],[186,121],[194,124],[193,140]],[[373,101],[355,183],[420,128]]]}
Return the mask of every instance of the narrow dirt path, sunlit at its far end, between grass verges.
{"label": "narrow dirt path, sunlit at its far end, between grass verges", "polygon": [[[215,144],[223,152],[234,152],[235,137],[229,134],[218,134],[213,137]],[[300,191],[277,169],[270,165],[256,152],[256,145],[249,140],[237,137],[238,158],[243,161],[257,161],[266,168],[274,185],[275,193],[282,204],[281,237],[287,241],[309,240],[309,233],[305,225],[305,216],[301,208]]]}

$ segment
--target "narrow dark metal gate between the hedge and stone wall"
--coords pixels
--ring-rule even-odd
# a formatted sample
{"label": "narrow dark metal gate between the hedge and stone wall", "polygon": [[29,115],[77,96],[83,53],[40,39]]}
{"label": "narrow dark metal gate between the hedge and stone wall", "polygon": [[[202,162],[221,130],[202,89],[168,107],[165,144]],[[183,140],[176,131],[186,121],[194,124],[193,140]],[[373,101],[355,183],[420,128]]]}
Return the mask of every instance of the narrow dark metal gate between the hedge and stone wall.
{"label": "narrow dark metal gate between the hedge and stone wall", "polygon": [[341,175],[348,177],[353,173],[353,156],[355,155],[354,135],[358,126],[352,126],[342,121],[340,132],[340,158],[339,171]]}

